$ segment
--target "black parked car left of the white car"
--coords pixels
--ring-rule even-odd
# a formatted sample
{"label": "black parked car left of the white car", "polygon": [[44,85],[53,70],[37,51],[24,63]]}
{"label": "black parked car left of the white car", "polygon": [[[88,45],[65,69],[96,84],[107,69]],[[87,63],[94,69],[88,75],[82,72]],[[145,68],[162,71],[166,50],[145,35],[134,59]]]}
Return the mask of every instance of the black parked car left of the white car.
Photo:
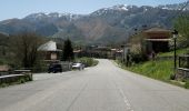
{"label": "black parked car left of the white car", "polygon": [[62,65],[60,63],[51,63],[49,65],[48,72],[51,73],[57,73],[57,72],[62,72]]}

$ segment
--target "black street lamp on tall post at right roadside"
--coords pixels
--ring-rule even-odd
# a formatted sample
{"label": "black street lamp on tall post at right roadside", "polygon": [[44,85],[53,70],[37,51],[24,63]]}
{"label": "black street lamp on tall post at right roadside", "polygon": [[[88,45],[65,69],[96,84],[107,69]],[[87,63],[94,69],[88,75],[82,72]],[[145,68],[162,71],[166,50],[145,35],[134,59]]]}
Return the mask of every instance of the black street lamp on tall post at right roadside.
{"label": "black street lamp on tall post at right roadside", "polygon": [[177,30],[173,30],[173,31],[172,31],[172,38],[173,38],[173,51],[175,51],[175,56],[173,56],[173,59],[175,59],[175,71],[176,71],[176,69],[177,69],[177,53],[176,53],[177,36],[178,36],[178,31],[177,31]]}

